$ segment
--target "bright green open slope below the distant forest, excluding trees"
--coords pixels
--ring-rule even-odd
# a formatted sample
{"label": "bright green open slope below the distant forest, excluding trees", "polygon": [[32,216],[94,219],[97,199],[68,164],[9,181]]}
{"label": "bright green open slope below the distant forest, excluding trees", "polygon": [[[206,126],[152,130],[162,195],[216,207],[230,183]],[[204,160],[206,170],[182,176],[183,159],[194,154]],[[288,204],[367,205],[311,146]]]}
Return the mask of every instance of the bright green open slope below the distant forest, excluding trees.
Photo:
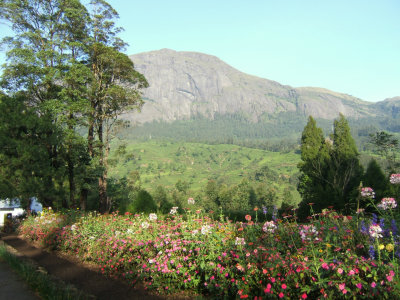
{"label": "bright green open slope below the distant forest, excluding trees", "polygon": [[182,178],[194,192],[210,179],[233,185],[243,178],[252,180],[263,166],[283,179],[275,180],[280,190],[289,185],[290,178],[296,177],[300,161],[294,152],[282,154],[230,144],[129,141],[115,144],[113,149],[111,176],[121,178],[136,170],[142,186],[149,191],[158,185],[173,187]]}

